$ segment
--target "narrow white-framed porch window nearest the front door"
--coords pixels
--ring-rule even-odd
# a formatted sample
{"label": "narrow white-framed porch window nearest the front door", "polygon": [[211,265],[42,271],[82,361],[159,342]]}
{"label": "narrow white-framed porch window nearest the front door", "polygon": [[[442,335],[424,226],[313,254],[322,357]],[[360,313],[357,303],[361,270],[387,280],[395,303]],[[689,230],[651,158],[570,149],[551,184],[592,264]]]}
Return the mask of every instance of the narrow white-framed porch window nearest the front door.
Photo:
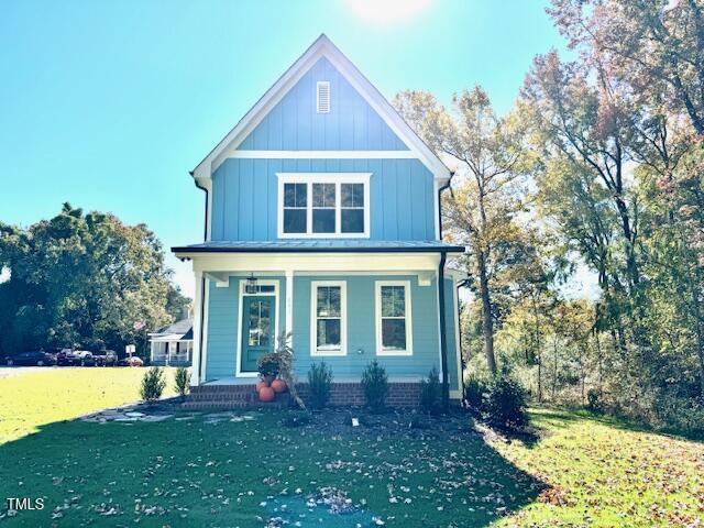
{"label": "narrow white-framed porch window nearest the front door", "polygon": [[346,355],[346,283],[310,283],[310,355]]}

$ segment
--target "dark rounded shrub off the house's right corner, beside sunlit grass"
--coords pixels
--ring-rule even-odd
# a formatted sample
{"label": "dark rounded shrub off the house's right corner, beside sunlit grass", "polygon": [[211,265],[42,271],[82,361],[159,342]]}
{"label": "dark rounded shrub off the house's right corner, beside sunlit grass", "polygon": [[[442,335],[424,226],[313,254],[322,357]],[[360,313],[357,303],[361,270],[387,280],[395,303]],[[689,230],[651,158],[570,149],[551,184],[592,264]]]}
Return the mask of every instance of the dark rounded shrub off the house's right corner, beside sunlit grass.
{"label": "dark rounded shrub off the house's right corner, beside sunlit grass", "polygon": [[490,381],[482,416],[490,426],[499,429],[520,429],[527,424],[526,392],[507,370]]}

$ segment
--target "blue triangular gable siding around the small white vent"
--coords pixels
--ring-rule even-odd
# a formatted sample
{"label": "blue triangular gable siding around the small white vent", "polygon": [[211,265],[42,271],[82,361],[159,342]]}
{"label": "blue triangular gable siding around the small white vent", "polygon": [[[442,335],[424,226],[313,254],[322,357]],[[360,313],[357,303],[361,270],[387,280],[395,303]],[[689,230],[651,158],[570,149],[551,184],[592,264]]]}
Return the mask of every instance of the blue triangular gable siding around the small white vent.
{"label": "blue triangular gable siding around the small white vent", "polygon": [[[318,113],[316,84],[330,82],[330,112]],[[257,151],[406,151],[350,82],[319,59],[239,145]]]}

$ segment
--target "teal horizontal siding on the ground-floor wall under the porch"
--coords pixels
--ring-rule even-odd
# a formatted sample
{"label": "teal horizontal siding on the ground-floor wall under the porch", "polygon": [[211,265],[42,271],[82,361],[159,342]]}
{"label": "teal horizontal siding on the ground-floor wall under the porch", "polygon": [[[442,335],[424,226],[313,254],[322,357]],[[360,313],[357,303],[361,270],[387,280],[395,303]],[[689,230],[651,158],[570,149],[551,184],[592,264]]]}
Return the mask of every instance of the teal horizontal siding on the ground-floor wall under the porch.
{"label": "teal horizontal siding on the ground-floor wall under the porch", "polygon": [[[286,328],[284,277],[266,277],[278,280],[279,332]],[[314,362],[324,361],[331,366],[338,381],[358,380],[369,362],[376,359],[393,380],[413,380],[427,376],[433,366],[440,372],[440,344],[438,334],[438,289],[433,280],[430,286],[418,286],[416,275],[340,275],[326,276],[324,280],[346,282],[348,353],[345,356],[312,356],[310,336],[310,293],[312,280],[321,277],[297,276],[294,278],[293,340],[296,353],[296,370],[300,380]],[[228,287],[209,288],[208,362],[207,380],[232,377],[235,373],[238,353],[239,277],[230,277]],[[376,355],[375,282],[408,280],[411,285],[413,355]],[[454,297],[452,280],[446,279],[446,309],[448,373],[450,387],[458,386],[455,355]],[[362,350],[363,353],[358,351]]]}

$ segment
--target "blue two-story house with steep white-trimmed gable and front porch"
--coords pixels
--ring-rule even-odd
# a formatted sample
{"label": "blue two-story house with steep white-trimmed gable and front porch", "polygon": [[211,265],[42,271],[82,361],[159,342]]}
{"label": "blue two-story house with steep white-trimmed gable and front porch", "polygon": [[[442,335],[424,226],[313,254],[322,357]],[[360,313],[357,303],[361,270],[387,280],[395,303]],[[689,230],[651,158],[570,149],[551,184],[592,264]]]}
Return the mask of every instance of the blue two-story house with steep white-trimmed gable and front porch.
{"label": "blue two-story house with steep white-trimmed gable and front porch", "polygon": [[334,403],[359,402],[372,360],[394,404],[413,405],[432,367],[461,397],[462,276],[447,262],[464,248],[440,221],[451,172],[328,37],[191,175],[205,242],[173,251],[196,276],[194,385],[253,383],[290,332],[299,380],[324,360]]}

